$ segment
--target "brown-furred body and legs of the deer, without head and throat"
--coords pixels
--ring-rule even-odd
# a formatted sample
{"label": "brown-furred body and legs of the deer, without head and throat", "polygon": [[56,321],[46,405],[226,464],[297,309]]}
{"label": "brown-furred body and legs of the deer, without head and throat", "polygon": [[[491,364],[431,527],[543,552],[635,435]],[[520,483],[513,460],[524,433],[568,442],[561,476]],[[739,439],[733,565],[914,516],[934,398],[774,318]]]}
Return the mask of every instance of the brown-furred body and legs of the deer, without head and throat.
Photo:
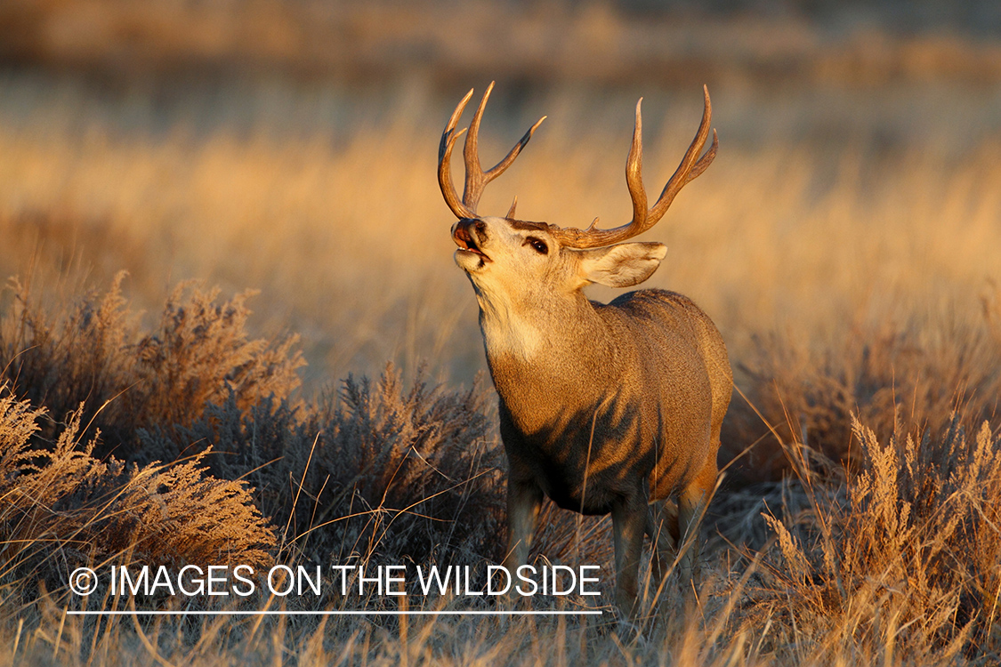
{"label": "brown-furred body and legs of the deer, without head and throat", "polygon": [[[716,327],[680,294],[642,290],[607,305],[581,295],[573,310],[548,310],[549,352],[531,363],[487,350],[511,465],[506,562],[526,562],[522,524],[534,523],[543,493],[585,514],[630,515],[616,559],[617,602],[629,613],[643,533],[657,532],[648,504],[679,497],[678,524],[666,528],[676,538],[695,529],[733,378]],[[526,508],[513,504],[526,502],[520,524]],[[689,576],[696,549],[683,561]]]}

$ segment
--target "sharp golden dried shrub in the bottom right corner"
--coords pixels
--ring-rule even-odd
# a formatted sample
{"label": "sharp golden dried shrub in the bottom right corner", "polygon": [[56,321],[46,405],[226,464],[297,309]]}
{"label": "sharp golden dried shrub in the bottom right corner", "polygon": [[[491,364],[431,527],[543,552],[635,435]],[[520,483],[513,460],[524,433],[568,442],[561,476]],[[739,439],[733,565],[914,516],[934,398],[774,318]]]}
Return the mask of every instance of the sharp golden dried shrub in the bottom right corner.
{"label": "sharp golden dried shrub in the bottom right corner", "polygon": [[1001,438],[987,423],[970,436],[961,421],[938,438],[884,444],[854,420],[860,469],[840,486],[822,485],[794,450],[810,508],[766,516],[778,539],[746,626],[778,616],[778,650],[809,646],[810,662],[838,652],[891,663],[899,651],[916,664],[996,655]]}

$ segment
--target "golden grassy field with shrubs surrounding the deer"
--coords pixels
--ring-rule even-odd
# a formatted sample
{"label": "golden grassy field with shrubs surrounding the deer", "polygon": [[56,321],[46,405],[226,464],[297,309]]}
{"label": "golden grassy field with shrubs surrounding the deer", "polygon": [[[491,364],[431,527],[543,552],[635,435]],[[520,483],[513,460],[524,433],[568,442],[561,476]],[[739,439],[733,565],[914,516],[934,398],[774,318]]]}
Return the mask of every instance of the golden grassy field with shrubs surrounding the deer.
{"label": "golden grassy field with shrubs surrounding the deer", "polygon": [[[169,5],[182,18],[198,6]],[[351,20],[378,22],[386,7]],[[615,28],[599,41],[609,53],[647,34],[611,6],[554,7],[573,19],[570,44],[595,25]],[[129,25],[149,29],[150,14],[135,16]],[[525,35],[546,24],[526,16]],[[239,59],[243,42],[222,49],[216,24],[185,37],[201,39],[192,51],[172,20],[154,22],[165,37],[151,62]],[[699,25],[750,25],[713,21]],[[715,67],[690,60],[691,74],[660,82],[578,76],[562,50],[527,80],[515,59],[484,120],[488,162],[549,116],[481,211],[503,213],[517,194],[529,219],[611,226],[630,212],[636,99],[653,190],[710,83],[720,153],[645,236],[669,248],[647,285],[693,297],[723,332],[737,385],[730,465],[698,603],[676,576],[660,595],[649,585],[639,640],[617,633],[610,605],[599,621],[67,615],[179,608],[106,587],[84,601],[67,589],[82,565],[497,562],[495,399],[435,183],[447,115],[466,81],[488,83],[476,77],[490,64],[387,76],[390,65],[369,63],[358,71],[377,81],[315,78],[339,52],[272,35],[250,76],[146,76],[140,60],[139,74],[116,78],[110,56],[79,55],[86,44],[0,71],[0,273],[15,277],[0,292],[0,665],[997,664],[996,42],[853,33],[856,50],[842,51],[816,37],[831,24],[778,24],[777,50],[735,28],[747,41],[706,56]],[[694,34],[693,52],[715,53]],[[976,57],[960,67],[943,53]],[[786,61],[796,76],[782,75]],[[540,563],[611,568],[607,520],[551,507],[537,542]],[[331,587],[191,604],[490,608]]]}

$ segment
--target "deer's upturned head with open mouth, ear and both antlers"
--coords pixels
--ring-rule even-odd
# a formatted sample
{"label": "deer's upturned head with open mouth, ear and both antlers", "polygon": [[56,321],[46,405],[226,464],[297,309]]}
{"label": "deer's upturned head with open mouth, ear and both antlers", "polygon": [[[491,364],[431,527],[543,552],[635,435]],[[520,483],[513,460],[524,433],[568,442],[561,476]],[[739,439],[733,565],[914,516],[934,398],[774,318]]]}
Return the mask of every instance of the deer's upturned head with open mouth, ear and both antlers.
{"label": "deer's upturned head with open mouth, ear and both antlers", "polygon": [[471,90],[455,107],[438,148],[438,184],[448,208],[459,219],[452,227],[452,239],[458,245],[455,263],[469,275],[477,291],[496,294],[529,290],[572,295],[590,283],[629,287],[649,278],[664,259],[667,248],[660,243],[623,242],[657,224],[682,187],[702,174],[716,157],[719,144],[715,130],[712,145],[700,157],[712,120],[708,89],[704,88],[705,110],[699,131],[661,196],[650,208],[643,185],[643,98],[637,102],[633,144],[626,161],[633,219],[614,229],[599,229],[598,218],[595,218],[588,228],[577,229],[517,219],[517,198],[503,218],[480,217],[476,213],[485,185],[511,166],[546,120],[545,116],[541,118],[500,162],[483,171],[478,155],[479,124],[492,88],[490,83],[483,93],[465,137],[462,150],[465,187],[461,199],[451,181],[449,161],[452,147],[463,132],[456,131],[455,125],[472,96]]}

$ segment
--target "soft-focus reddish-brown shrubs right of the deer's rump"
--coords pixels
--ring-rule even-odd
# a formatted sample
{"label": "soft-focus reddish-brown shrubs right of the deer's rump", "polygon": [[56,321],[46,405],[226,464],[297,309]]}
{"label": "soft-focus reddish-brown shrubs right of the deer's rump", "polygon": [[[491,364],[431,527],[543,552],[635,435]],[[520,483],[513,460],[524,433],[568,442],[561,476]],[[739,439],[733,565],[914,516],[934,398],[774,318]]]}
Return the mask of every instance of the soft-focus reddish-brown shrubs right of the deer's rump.
{"label": "soft-focus reddish-brown shrubs right of the deer's rump", "polygon": [[755,339],[739,364],[739,386],[724,423],[725,456],[758,442],[738,465],[745,479],[775,479],[786,468],[780,441],[799,441],[835,461],[863,455],[853,415],[880,438],[906,429],[939,431],[959,414],[974,428],[998,414],[1001,299],[983,299],[983,317],[939,316],[839,329],[818,345],[794,336]]}

